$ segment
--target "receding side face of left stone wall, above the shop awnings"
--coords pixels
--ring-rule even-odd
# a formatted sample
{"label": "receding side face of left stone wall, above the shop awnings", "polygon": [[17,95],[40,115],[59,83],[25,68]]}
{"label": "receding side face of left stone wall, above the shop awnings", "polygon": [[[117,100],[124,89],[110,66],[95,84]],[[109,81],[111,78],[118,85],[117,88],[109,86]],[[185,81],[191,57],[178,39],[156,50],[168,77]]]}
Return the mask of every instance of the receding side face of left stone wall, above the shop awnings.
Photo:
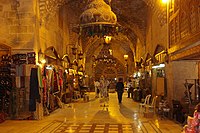
{"label": "receding side face of left stone wall, above the shop awnings", "polygon": [[44,52],[46,48],[53,46],[61,57],[66,53],[72,57],[70,23],[73,16],[69,15],[69,11],[67,7],[61,7],[55,14],[43,19],[39,26],[38,50],[41,49]]}

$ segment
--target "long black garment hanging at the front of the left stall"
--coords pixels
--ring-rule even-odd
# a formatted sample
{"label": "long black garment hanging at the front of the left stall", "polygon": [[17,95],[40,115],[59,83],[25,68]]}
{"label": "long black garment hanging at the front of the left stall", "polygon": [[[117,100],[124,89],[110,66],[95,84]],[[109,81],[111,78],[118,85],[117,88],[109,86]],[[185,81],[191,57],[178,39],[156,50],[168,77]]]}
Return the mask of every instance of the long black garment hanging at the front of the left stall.
{"label": "long black garment hanging at the front of the left stall", "polygon": [[29,111],[36,111],[36,102],[40,99],[38,68],[31,68],[30,76],[30,94],[29,94]]}

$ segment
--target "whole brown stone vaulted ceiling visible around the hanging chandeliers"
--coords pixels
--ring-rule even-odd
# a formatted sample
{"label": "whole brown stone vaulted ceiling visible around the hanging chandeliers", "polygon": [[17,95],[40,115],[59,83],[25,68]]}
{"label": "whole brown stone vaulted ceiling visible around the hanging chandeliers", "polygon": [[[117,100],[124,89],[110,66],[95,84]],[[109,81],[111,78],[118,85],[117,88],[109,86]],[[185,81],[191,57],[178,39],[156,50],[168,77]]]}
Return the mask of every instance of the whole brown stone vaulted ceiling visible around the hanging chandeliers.
{"label": "whole brown stone vaulted ceiling visible around the hanging chandeliers", "polygon": [[[48,1],[48,2],[47,2]],[[43,5],[55,3],[60,1],[61,4],[57,4],[57,8],[59,6],[63,6],[68,8],[73,12],[73,18],[76,18],[74,23],[79,23],[79,16],[84,11],[84,8],[88,4],[90,0],[40,0],[41,7]],[[137,40],[140,40],[142,45],[145,45],[145,37],[146,37],[146,23],[147,23],[147,2],[146,0],[104,0],[107,4],[110,4],[112,11],[117,16],[117,22],[119,25],[123,27],[123,33],[120,33],[118,36],[115,36],[112,40],[112,43],[118,43],[116,46],[121,47],[121,57],[123,58],[123,54],[134,52],[134,48]],[[45,14],[45,12],[53,13],[55,12],[53,9],[55,7],[47,6],[48,10],[41,10],[41,14]],[[42,9],[42,8],[41,8]],[[44,8],[45,9],[45,8]],[[42,16],[42,15],[41,15]],[[48,15],[49,16],[49,15]],[[94,55],[96,48],[99,43],[102,43],[102,40],[96,38],[91,39],[83,39],[82,48],[83,52],[86,55]],[[92,46],[91,45],[97,45]],[[120,49],[120,48],[119,48]]]}

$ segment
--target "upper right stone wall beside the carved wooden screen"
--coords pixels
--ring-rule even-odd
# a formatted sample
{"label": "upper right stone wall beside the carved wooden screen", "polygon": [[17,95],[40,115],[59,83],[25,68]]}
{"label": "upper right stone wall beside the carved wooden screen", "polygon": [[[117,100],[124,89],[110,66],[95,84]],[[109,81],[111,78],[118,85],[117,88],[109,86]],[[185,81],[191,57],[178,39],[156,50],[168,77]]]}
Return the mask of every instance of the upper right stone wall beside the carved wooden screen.
{"label": "upper right stone wall beside the carved wooden screen", "polygon": [[167,45],[167,24],[161,25],[157,14],[148,13],[146,43],[142,45],[139,41],[136,44],[136,60],[140,57],[146,58],[147,53],[154,55],[157,45],[168,48]]}

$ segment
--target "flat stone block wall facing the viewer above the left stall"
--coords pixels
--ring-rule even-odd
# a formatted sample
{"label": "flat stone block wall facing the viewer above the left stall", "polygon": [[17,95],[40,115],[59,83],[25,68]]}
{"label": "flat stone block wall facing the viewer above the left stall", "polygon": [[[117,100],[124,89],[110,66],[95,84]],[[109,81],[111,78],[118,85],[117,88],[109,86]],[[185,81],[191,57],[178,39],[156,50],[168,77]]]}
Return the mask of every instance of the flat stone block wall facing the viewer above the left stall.
{"label": "flat stone block wall facing the viewer above the left stall", "polygon": [[[34,45],[34,10],[32,0],[0,2],[0,43],[12,52],[32,50]],[[20,49],[20,50],[19,50]]]}

